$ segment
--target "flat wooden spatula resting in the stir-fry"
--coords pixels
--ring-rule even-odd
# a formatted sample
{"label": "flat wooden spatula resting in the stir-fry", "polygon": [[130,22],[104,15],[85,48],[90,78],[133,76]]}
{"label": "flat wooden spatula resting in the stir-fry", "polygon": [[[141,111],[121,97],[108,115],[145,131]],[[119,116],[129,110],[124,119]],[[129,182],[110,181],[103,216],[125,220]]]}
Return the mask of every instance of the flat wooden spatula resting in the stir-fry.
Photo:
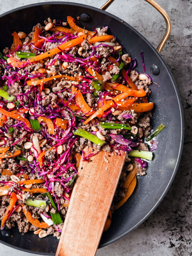
{"label": "flat wooden spatula resting in the stir-fry", "polygon": [[56,256],[96,254],[125,158],[100,151],[81,159]]}

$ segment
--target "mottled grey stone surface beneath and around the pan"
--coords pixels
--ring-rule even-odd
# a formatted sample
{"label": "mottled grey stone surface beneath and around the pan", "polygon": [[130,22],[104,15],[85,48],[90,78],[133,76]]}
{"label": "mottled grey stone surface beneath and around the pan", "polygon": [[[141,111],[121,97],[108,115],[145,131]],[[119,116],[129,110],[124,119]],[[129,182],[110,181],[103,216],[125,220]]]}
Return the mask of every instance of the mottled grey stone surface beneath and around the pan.
{"label": "mottled grey stone surface beneath and around the pan", "polygon": [[[172,32],[161,54],[178,86],[185,119],[183,154],[176,177],[163,202],[139,228],[119,241],[101,248],[97,256],[188,256],[192,255],[192,2],[157,0],[172,20]],[[0,13],[39,2],[38,0],[0,0]],[[48,2],[44,0],[44,2]],[[66,1],[70,2],[70,1]],[[101,7],[105,0],[71,2]],[[161,15],[144,0],[116,0],[108,12],[122,18],[157,46],[165,23]],[[29,256],[0,244],[0,255]],[[34,254],[35,255],[35,254]]]}

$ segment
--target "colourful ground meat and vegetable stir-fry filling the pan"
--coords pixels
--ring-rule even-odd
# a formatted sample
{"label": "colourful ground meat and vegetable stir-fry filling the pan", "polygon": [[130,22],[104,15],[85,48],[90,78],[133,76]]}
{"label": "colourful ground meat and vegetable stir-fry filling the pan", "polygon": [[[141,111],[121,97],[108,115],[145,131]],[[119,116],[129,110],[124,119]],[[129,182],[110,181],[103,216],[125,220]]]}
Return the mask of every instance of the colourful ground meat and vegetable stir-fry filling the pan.
{"label": "colourful ground meat and vegetable stir-fry filling the pan", "polygon": [[59,237],[81,155],[90,161],[100,150],[126,151],[106,230],[145,174],[140,157],[152,160],[158,143],[151,139],[164,128],[148,138],[149,150],[152,81],[133,70],[136,60],[108,27],[88,31],[68,16],[12,36],[0,54],[1,229]]}

